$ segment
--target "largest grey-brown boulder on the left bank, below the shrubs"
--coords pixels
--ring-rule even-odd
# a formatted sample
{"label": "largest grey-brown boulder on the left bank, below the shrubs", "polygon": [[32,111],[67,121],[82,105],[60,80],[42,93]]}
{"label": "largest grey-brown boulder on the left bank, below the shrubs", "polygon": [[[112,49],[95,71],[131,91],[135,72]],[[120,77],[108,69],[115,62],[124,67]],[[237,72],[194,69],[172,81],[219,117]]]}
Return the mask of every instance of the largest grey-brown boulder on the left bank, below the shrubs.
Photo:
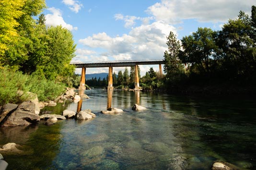
{"label": "largest grey-brown boulder on the left bank, below the shrubs", "polygon": [[35,103],[26,101],[21,103],[1,126],[30,125],[39,121],[40,116],[35,114]]}

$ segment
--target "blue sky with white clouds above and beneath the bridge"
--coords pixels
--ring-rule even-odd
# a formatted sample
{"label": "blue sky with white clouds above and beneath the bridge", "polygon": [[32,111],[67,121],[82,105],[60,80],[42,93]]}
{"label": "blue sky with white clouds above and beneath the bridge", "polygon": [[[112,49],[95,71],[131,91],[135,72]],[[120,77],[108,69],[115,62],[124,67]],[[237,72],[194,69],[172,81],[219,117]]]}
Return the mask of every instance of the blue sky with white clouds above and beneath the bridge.
{"label": "blue sky with white clouds above and beneath the bridge", "polygon": [[[198,27],[221,30],[239,11],[251,16],[255,0],[46,0],[47,26],[62,25],[73,34],[71,62],[163,59],[170,31],[177,39]],[[140,65],[140,74],[157,65]],[[163,68],[163,67],[162,67]],[[129,69],[129,68],[128,68]],[[118,73],[124,68],[113,68]],[[86,74],[108,72],[87,68]],[[81,74],[81,68],[76,69]]]}

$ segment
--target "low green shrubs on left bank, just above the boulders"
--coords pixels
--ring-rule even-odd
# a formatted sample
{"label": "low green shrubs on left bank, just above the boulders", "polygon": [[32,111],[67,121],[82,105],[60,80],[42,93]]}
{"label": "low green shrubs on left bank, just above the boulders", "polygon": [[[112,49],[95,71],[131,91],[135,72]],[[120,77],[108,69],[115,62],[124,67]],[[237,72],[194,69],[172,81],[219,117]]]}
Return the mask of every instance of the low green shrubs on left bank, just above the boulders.
{"label": "low green shrubs on left bank, just above the boulders", "polygon": [[[63,84],[36,75],[24,75],[20,71],[4,68],[0,69],[0,75],[0,105],[27,100],[27,91],[36,93],[39,101],[47,101],[56,99],[65,90]],[[23,91],[23,95],[19,91]]]}

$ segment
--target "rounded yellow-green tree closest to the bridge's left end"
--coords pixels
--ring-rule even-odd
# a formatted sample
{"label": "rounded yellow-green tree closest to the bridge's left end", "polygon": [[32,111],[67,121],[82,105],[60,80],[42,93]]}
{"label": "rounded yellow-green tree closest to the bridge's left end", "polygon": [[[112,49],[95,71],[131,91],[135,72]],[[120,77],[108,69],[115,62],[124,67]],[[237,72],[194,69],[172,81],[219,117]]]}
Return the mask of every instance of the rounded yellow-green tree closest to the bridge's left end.
{"label": "rounded yellow-green tree closest to the bridge's left end", "polygon": [[61,26],[47,29],[47,52],[43,60],[44,72],[47,79],[57,79],[58,76],[71,76],[74,66],[70,65],[75,56],[73,35]]}

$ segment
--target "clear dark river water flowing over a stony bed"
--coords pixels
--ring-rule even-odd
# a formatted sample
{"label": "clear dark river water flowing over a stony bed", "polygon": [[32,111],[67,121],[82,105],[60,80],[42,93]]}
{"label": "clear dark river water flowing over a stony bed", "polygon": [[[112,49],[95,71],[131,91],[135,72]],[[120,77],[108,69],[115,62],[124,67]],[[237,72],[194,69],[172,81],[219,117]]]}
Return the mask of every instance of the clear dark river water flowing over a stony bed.
{"label": "clear dark river water flowing over a stony bed", "polygon": [[[0,145],[15,142],[22,154],[3,155],[8,170],[209,170],[215,160],[256,169],[256,100],[162,93],[90,90],[81,109],[90,121],[0,128]],[[108,97],[107,97],[108,96]],[[102,114],[109,103],[123,109]],[[145,111],[132,111],[138,103]],[[58,103],[43,111],[77,111]]]}

